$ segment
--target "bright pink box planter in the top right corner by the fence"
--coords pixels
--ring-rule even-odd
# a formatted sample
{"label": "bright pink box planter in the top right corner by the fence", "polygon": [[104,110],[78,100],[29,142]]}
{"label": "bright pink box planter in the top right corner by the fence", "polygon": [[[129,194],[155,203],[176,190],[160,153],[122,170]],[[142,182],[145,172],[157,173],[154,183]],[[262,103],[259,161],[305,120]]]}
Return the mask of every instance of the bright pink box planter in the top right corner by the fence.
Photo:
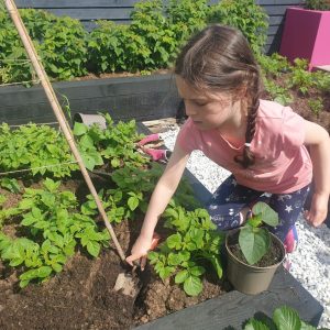
{"label": "bright pink box planter in the top right corner by the fence", "polygon": [[279,54],[308,59],[309,69],[330,65],[330,11],[287,9]]}

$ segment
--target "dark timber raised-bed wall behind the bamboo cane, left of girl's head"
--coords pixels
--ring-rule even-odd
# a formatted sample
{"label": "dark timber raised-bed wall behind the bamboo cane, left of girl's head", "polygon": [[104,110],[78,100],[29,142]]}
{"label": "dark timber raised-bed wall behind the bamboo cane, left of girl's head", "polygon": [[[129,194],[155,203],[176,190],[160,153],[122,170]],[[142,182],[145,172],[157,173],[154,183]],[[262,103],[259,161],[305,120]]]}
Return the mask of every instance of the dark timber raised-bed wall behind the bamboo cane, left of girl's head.
{"label": "dark timber raised-bed wall behind the bamboo cane, left of girl's head", "polygon": [[[108,78],[53,84],[54,90],[70,112],[109,112],[114,120],[138,121],[176,117],[180,108],[172,75]],[[0,87],[0,122],[23,124],[52,122],[55,116],[42,87]]]}

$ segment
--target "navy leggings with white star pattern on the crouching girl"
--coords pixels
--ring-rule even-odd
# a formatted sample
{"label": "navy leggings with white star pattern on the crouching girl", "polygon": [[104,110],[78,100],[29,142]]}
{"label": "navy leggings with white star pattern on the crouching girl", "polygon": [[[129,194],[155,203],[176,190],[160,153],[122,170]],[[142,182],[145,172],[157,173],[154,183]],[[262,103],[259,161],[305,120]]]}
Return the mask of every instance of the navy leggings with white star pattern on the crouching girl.
{"label": "navy leggings with white star pattern on the crouching girl", "polygon": [[309,189],[308,185],[290,194],[267,194],[239,185],[231,175],[216,190],[206,208],[220,230],[229,230],[240,226],[240,211],[244,207],[265,201],[279,218],[278,226],[270,231],[284,241],[302,210]]}

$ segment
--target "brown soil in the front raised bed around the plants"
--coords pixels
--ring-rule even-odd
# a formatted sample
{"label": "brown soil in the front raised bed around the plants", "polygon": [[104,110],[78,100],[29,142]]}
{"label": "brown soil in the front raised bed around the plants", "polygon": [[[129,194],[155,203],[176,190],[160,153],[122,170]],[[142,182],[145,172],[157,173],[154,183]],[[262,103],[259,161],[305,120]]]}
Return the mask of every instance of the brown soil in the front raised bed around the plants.
{"label": "brown soil in the front raised bed around the plants", "polygon": [[[96,182],[97,189],[105,182]],[[32,184],[31,187],[37,187]],[[62,189],[86,193],[85,185],[76,178],[64,184]],[[108,187],[107,187],[108,188]],[[7,207],[16,205],[16,195],[6,194]],[[142,220],[123,221],[114,226],[118,240],[129,253],[139,235]],[[102,222],[100,222],[102,226]],[[6,232],[15,237],[18,224],[6,223]],[[161,228],[156,229],[164,237]],[[82,250],[69,260],[63,272],[43,284],[19,287],[20,270],[13,270],[0,261],[0,329],[131,329],[158,317],[199,304],[231,290],[230,284],[208,275],[204,290],[198,297],[188,297],[169,280],[164,283],[151,267],[136,272],[134,280],[142,286],[134,299],[114,292],[120,273],[130,272],[110,243],[99,257],[89,257]],[[211,273],[211,272],[208,272]]]}

